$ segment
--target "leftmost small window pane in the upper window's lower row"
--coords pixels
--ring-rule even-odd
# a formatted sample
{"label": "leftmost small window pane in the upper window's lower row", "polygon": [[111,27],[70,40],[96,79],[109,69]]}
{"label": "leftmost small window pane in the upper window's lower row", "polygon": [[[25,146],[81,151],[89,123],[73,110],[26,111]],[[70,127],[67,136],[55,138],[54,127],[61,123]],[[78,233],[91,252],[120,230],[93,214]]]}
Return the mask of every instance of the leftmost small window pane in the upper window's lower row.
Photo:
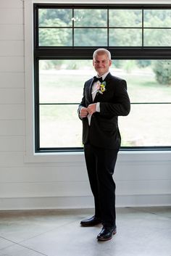
{"label": "leftmost small window pane in the upper window's lower row", "polygon": [[39,28],[39,46],[72,46],[72,29]]}

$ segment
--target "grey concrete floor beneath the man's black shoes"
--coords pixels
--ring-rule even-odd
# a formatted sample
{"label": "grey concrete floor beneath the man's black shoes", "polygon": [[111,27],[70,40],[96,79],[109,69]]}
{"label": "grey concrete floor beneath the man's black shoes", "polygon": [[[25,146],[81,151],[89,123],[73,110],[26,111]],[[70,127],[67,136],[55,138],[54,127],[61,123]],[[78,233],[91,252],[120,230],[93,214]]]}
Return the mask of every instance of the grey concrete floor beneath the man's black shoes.
{"label": "grey concrete floor beneath the man's black shoes", "polygon": [[171,207],[117,208],[117,234],[80,227],[93,210],[0,212],[1,256],[171,256]]}

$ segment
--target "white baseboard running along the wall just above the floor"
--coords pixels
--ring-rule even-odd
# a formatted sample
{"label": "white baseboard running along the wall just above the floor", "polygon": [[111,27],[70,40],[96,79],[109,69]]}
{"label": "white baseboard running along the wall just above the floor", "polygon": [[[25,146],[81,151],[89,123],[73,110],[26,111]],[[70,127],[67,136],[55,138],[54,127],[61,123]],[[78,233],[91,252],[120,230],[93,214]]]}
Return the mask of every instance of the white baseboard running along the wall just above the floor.
{"label": "white baseboard running along the wall just above the floor", "polygon": [[[171,194],[122,194],[116,207],[171,206]],[[93,197],[9,197],[0,198],[0,210],[46,210],[93,208]]]}

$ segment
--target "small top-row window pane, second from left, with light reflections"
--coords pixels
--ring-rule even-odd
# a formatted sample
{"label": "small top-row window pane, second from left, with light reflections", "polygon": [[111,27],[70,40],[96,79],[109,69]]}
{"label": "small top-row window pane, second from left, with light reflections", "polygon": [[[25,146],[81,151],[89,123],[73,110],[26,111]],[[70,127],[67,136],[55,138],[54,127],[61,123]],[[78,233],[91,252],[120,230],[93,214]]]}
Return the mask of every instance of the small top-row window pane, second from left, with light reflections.
{"label": "small top-row window pane, second from left, with light reflections", "polygon": [[106,27],[107,9],[75,9],[75,27]]}

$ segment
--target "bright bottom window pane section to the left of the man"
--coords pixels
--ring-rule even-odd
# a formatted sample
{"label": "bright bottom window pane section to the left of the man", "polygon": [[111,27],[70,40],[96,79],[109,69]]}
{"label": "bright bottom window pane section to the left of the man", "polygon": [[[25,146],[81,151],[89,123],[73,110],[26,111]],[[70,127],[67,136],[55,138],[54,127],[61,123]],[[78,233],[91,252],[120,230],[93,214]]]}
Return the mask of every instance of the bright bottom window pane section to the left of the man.
{"label": "bright bottom window pane section to the left of the man", "polygon": [[78,105],[40,106],[40,147],[80,147]]}

